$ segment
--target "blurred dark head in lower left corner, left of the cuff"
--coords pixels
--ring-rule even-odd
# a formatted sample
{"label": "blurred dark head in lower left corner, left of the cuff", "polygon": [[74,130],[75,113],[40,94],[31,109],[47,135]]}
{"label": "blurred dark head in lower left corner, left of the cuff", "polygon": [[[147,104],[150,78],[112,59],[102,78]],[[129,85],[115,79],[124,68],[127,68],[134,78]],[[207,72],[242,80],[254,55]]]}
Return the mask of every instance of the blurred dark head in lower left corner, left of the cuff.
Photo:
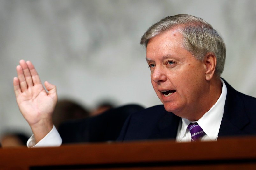
{"label": "blurred dark head in lower left corner, left of the cuff", "polygon": [[26,146],[28,139],[28,136],[23,133],[5,133],[1,137],[1,144],[3,148]]}

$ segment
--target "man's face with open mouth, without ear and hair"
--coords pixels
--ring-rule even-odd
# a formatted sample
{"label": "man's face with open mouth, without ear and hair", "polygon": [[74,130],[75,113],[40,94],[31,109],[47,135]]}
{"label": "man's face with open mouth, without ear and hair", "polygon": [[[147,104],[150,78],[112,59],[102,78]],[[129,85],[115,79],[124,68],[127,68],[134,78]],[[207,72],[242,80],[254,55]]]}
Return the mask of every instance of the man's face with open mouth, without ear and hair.
{"label": "man's face with open mouth, without ear and hair", "polygon": [[189,119],[189,114],[200,110],[207,85],[203,62],[182,48],[182,42],[175,29],[159,34],[149,40],[146,59],[151,83],[165,109]]}

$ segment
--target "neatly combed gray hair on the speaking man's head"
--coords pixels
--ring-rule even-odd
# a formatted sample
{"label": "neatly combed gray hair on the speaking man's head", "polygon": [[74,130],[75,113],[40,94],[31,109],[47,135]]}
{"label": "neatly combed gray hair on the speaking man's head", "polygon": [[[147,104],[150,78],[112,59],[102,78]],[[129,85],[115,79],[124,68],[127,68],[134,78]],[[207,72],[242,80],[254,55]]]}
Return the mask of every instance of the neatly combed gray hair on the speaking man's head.
{"label": "neatly combed gray hair on the speaking man's head", "polygon": [[203,61],[208,52],[212,52],[216,56],[215,73],[220,76],[224,70],[226,58],[225,43],[217,31],[202,18],[188,14],[165,17],[144,33],[140,44],[147,47],[151,38],[175,27],[184,37],[182,47],[191,52],[197,60]]}

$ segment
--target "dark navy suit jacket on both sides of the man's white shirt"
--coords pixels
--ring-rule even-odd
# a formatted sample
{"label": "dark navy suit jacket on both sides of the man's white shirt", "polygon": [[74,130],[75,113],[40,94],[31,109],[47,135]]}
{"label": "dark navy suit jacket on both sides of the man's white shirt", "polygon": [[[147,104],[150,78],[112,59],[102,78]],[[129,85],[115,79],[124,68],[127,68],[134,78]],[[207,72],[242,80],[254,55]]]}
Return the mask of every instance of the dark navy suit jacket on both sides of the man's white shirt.
{"label": "dark navy suit jacket on both sides of the man's white shirt", "polygon": [[[255,135],[256,98],[242,94],[224,82],[227,96],[218,139]],[[167,112],[163,105],[153,106],[130,115],[117,140],[176,139],[180,120],[180,117]]]}

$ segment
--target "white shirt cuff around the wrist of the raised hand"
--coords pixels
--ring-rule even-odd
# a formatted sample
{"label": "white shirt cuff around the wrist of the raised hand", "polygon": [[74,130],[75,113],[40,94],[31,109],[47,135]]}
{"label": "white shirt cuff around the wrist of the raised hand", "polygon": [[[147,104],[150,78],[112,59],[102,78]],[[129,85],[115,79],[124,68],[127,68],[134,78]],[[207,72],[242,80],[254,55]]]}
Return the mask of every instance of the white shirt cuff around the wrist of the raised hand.
{"label": "white shirt cuff around the wrist of the raised hand", "polygon": [[27,147],[58,147],[62,144],[62,139],[55,126],[52,130],[38,143],[36,143],[34,134],[28,139]]}

